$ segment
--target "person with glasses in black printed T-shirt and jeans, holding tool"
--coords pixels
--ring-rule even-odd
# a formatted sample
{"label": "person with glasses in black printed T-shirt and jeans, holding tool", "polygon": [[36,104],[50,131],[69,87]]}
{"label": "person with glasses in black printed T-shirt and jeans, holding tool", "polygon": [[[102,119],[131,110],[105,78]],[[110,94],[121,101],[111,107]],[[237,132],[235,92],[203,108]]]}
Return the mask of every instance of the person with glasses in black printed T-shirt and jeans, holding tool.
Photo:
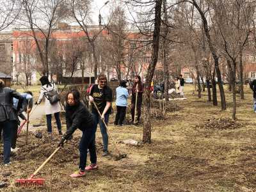
{"label": "person with glasses in black printed T-shirt and jeans, holding tool", "polygon": [[[101,118],[104,119],[105,123],[108,125],[109,114],[111,113],[111,102],[112,102],[112,90],[107,86],[107,77],[104,74],[98,77],[99,84],[94,84],[90,92],[89,100],[90,102],[95,102],[97,108],[100,111]],[[100,115],[92,105],[92,115],[100,125],[100,132],[102,134],[103,141],[103,154],[102,156],[108,156],[108,132],[104,123],[100,120]]]}

